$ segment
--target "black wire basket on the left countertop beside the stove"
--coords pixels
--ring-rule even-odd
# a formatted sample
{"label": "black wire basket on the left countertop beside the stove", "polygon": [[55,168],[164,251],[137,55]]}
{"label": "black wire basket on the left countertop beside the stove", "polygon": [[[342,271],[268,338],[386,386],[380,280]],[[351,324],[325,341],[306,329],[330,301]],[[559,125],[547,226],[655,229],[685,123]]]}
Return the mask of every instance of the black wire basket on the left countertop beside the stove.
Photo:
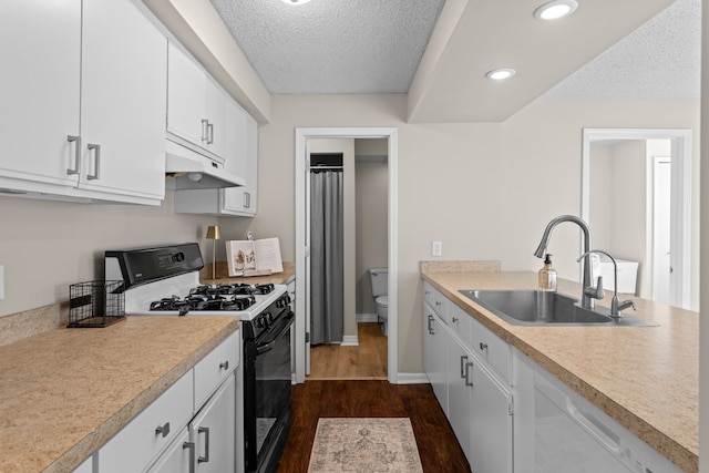
{"label": "black wire basket on the left countertop beside the stove", "polygon": [[86,281],[69,286],[68,327],[107,327],[123,319],[123,281]]}

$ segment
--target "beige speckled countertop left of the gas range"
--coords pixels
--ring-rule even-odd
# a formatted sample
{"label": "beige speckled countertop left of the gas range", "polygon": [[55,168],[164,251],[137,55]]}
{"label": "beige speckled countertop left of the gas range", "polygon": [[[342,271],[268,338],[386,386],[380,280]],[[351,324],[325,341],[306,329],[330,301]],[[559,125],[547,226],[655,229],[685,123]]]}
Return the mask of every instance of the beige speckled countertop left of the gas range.
{"label": "beige speckled countertop left of the gas range", "polygon": [[0,347],[0,472],[70,472],[239,327],[127,317]]}

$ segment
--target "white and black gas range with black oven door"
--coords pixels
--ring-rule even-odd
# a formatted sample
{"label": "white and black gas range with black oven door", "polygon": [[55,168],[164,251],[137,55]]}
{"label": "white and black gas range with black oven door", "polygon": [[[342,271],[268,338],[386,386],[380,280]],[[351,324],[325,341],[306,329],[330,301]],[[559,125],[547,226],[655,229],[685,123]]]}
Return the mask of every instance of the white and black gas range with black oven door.
{"label": "white and black gas range with black oven door", "polygon": [[[105,253],[106,281],[122,281],[129,316],[230,316],[242,320],[244,463],[276,471],[290,429],[291,326],[284,285],[203,285],[196,243]],[[240,408],[240,409],[239,409]]]}

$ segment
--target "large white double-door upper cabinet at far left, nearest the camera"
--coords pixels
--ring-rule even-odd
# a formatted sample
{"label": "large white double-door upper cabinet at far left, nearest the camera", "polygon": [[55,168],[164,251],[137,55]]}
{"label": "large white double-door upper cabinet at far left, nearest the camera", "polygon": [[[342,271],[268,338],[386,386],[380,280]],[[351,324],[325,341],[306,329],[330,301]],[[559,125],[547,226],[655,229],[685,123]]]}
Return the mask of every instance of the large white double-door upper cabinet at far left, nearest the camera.
{"label": "large white double-door upper cabinet at far left, nearest the camera", "polygon": [[160,204],[166,38],[142,3],[11,0],[0,61],[0,187]]}

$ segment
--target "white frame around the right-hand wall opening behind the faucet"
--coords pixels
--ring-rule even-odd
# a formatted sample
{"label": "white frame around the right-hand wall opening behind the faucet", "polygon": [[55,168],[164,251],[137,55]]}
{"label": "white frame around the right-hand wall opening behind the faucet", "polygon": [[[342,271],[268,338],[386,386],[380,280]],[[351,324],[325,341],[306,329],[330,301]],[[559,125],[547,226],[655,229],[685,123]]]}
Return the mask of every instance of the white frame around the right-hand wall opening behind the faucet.
{"label": "white frame around the right-hand wall opening behind the faucet", "polygon": [[590,143],[599,140],[671,140],[671,245],[675,280],[670,288],[672,305],[690,306],[691,289],[691,130],[689,128],[583,128],[582,130],[582,209],[590,216]]}

